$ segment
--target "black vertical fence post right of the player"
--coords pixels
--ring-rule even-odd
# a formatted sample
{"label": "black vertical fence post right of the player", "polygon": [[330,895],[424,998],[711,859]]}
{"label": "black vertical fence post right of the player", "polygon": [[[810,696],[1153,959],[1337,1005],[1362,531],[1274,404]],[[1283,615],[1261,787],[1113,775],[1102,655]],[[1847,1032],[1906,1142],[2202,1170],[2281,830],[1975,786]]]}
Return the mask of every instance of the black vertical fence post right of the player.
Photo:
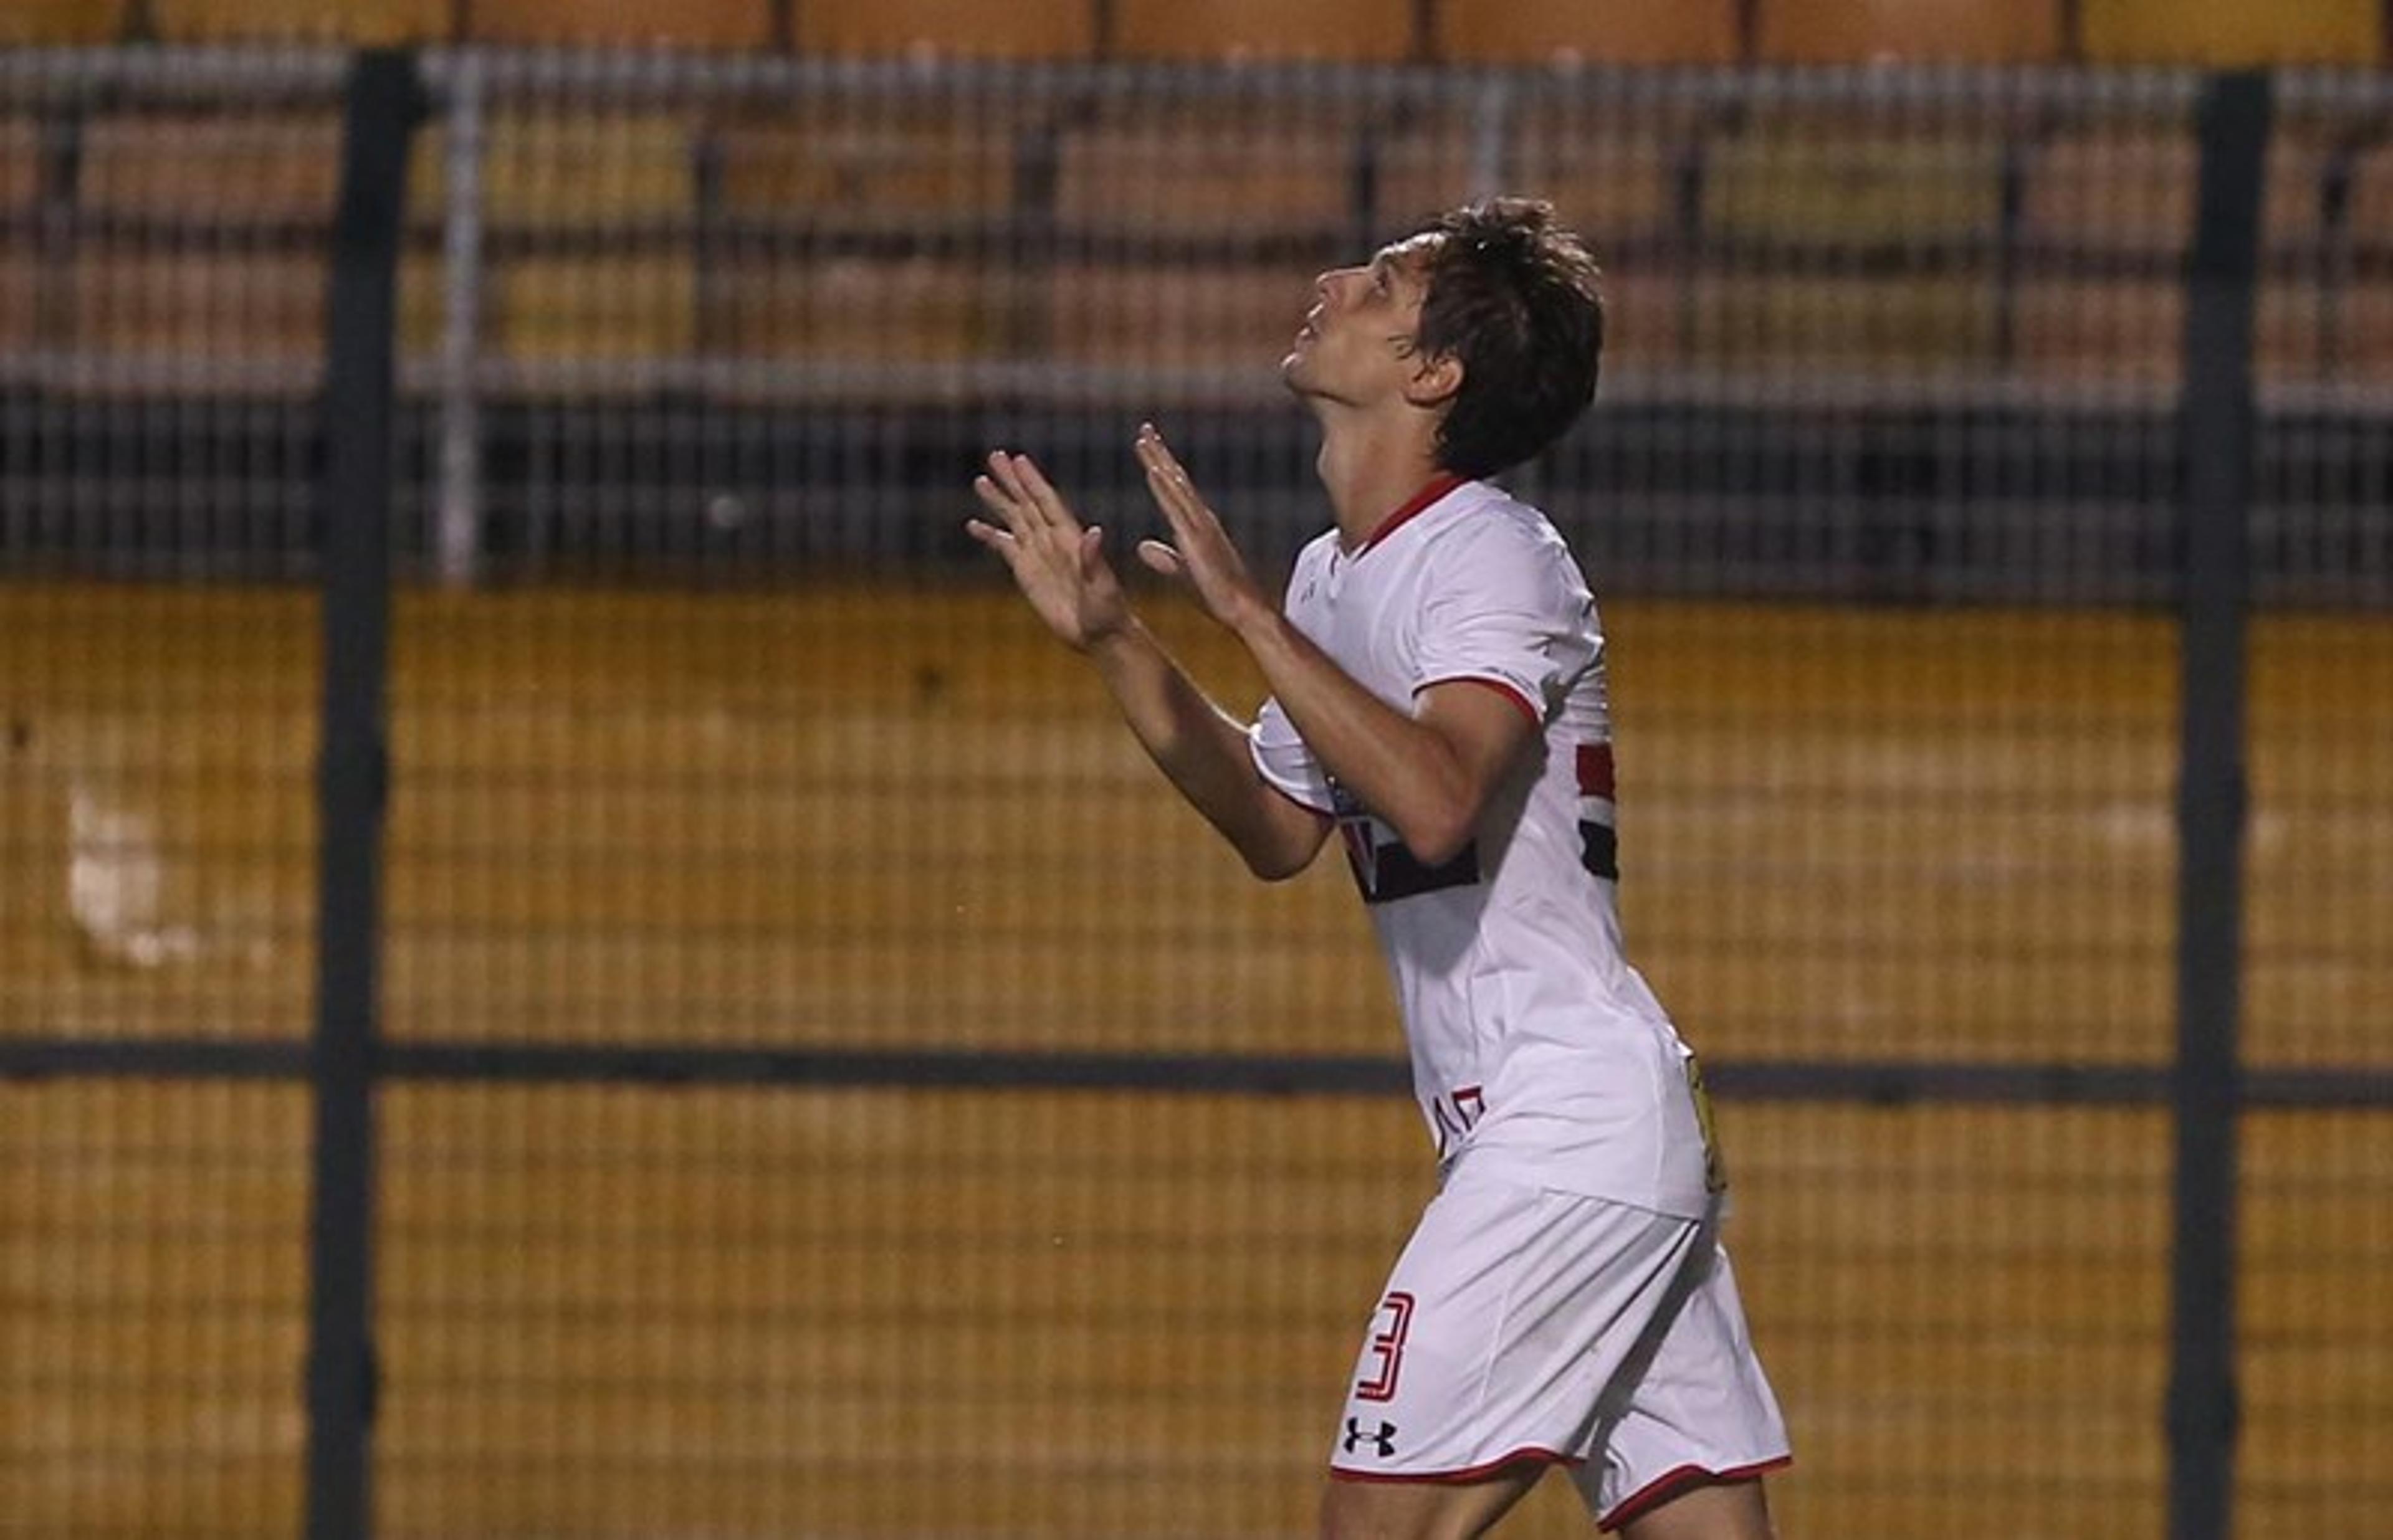
{"label": "black vertical fence post right of the player", "polygon": [[2225,1540],[2235,1502],[2245,598],[2269,112],[2269,77],[2259,72],[2218,74],[2202,91],[2202,187],[2185,297],[2168,1540]]}

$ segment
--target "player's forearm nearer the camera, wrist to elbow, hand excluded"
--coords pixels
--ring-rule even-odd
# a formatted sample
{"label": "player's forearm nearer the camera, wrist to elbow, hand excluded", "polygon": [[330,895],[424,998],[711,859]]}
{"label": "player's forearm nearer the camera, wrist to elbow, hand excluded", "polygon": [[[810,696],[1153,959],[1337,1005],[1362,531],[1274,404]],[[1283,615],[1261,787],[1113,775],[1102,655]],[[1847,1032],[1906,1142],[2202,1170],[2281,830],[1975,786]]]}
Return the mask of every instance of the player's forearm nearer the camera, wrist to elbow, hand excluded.
{"label": "player's forearm nearer the camera, wrist to elbow, hand excluded", "polygon": [[1469,844],[1481,792],[1445,739],[1364,689],[1278,612],[1247,617],[1237,636],[1314,756],[1414,856],[1441,863]]}

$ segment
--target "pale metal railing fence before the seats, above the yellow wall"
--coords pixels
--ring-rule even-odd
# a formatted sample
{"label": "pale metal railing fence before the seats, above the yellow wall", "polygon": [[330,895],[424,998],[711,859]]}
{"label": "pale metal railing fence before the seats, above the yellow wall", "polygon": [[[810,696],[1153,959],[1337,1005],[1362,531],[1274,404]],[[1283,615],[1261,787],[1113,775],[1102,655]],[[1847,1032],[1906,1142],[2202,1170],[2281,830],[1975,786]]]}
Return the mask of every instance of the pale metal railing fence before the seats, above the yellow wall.
{"label": "pale metal railing fence before the seats, above the yellow wall", "polygon": [[[321,368],[335,69],[10,60],[12,550],[304,557],[287,404]],[[1309,452],[1271,354],[1309,273],[1536,187],[1613,282],[1610,416],[1539,490],[1615,588],[2168,593],[2187,74],[457,53],[431,77],[400,433],[409,552],[450,579],[950,560],[952,466],[988,430],[1110,442],[1146,407],[1249,445],[1218,471],[1285,548]],[[2285,79],[2264,600],[2393,588],[2379,115],[2374,81]],[[218,421],[158,421],[191,399]],[[165,490],[108,502],[144,459]],[[1086,469],[1127,485],[1113,459]]]}

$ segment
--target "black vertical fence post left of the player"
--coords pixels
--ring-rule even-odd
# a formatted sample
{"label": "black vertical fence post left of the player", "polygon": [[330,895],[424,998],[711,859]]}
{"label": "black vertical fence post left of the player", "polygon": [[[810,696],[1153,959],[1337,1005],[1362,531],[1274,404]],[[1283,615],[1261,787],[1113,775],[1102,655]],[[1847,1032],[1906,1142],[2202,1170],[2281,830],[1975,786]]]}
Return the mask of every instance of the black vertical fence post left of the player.
{"label": "black vertical fence post left of the player", "polygon": [[325,325],[323,746],[318,756],[316,1191],[309,1227],[306,1535],[364,1540],[373,1435],[373,1074],[383,677],[390,636],[390,421],[409,53],[349,69]]}

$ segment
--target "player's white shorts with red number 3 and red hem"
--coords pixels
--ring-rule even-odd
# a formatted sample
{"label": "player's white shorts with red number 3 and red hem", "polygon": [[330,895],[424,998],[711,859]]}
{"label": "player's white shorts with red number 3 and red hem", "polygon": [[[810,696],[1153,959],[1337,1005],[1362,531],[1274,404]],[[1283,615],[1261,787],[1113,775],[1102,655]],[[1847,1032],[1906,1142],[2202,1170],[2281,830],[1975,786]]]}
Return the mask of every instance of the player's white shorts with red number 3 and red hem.
{"label": "player's white shorts with red number 3 and red hem", "polygon": [[1364,1332],[1331,1473],[1565,1463],[1613,1528],[1697,1480],[1783,1466],[1716,1220],[1455,1169]]}

